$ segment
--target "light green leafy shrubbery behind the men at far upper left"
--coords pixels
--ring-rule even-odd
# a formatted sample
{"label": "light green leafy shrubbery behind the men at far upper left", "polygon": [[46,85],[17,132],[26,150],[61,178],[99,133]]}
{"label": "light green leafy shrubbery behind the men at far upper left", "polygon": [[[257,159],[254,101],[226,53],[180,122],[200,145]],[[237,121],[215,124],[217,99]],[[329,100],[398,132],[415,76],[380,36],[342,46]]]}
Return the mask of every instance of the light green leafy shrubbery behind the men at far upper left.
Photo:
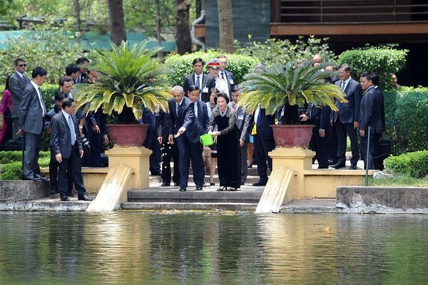
{"label": "light green leafy shrubbery behind the men at far upper left", "polygon": [[83,55],[81,47],[72,43],[72,39],[71,33],[63,32],[59,28],[10,38],[5,43],[4,50],[0,51],[1,86],[4,86],[6,77],[15,71],[15,58],[24,58],[28,64],[26,70],[30,78],[31,71],[36,66],[41,66],[48,71],[46,82],[58,84],[66,66]]}

